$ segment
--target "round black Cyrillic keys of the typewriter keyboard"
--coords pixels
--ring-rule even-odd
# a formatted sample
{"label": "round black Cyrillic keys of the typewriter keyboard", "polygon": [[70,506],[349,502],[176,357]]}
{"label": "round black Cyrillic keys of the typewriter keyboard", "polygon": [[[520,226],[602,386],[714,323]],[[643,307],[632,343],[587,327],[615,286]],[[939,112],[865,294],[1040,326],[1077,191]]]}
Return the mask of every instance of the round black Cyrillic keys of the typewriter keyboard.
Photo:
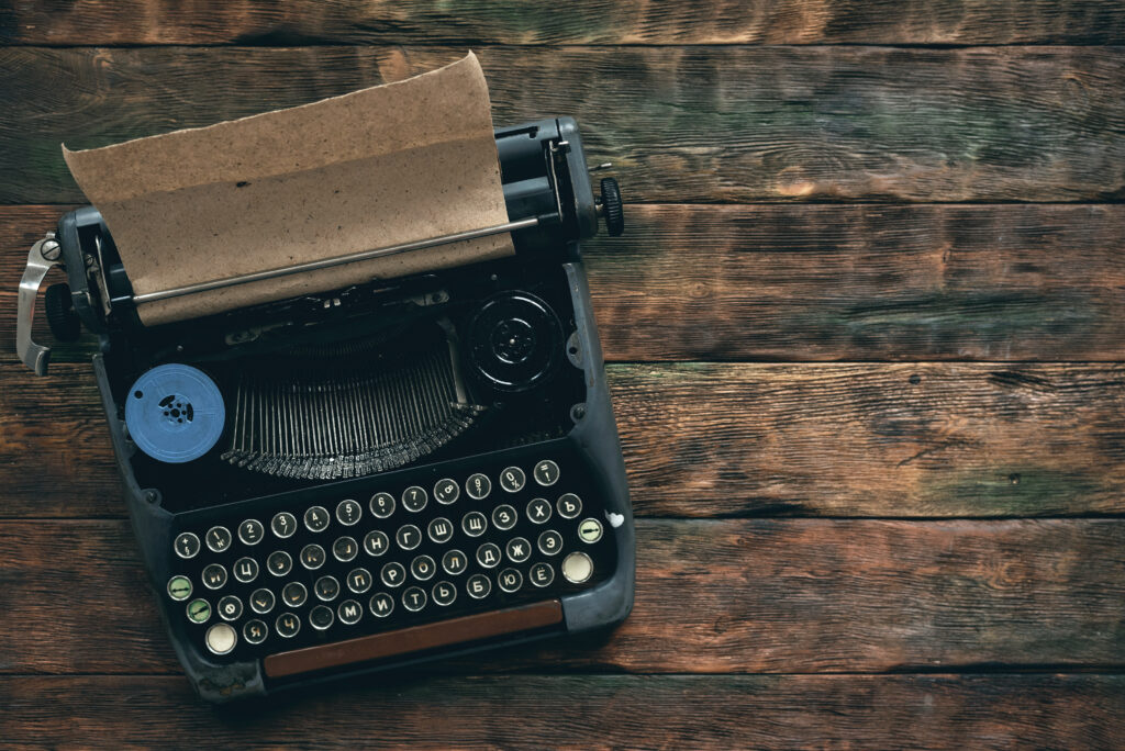
{"label": "round black Cyrillic keys of the typewriter keyboard", "polygon": [[620,517],[565,463],[431,471],[205,518],[172,541],[173,616],[213,660],[234,660],[580,591],[613,573]]}

